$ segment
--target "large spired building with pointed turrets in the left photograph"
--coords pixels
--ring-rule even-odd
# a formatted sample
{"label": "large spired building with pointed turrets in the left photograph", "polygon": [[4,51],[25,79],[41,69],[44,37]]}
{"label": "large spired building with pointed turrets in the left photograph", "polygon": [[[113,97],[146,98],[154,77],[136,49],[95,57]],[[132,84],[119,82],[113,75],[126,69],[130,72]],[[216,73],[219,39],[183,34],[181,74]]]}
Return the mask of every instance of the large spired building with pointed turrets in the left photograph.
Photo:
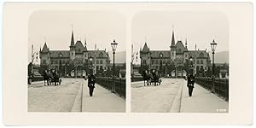
{"label": "large spired building with pointed turrets in the left photograph", "polygon": [[[61,73],[69,74],[71,71],[98,73],[108,70],[110,63],[108,52],[105,50],[88,50],[86,40],[84,44],[80,40],[74,42],[73,32],[69,50],[50,50],[46,42],[43,49],[40,49],[40,65],[55,69]],[[63,72],[64,71],[64,72]],[[59,73],[60,73],[59,72]]]}

